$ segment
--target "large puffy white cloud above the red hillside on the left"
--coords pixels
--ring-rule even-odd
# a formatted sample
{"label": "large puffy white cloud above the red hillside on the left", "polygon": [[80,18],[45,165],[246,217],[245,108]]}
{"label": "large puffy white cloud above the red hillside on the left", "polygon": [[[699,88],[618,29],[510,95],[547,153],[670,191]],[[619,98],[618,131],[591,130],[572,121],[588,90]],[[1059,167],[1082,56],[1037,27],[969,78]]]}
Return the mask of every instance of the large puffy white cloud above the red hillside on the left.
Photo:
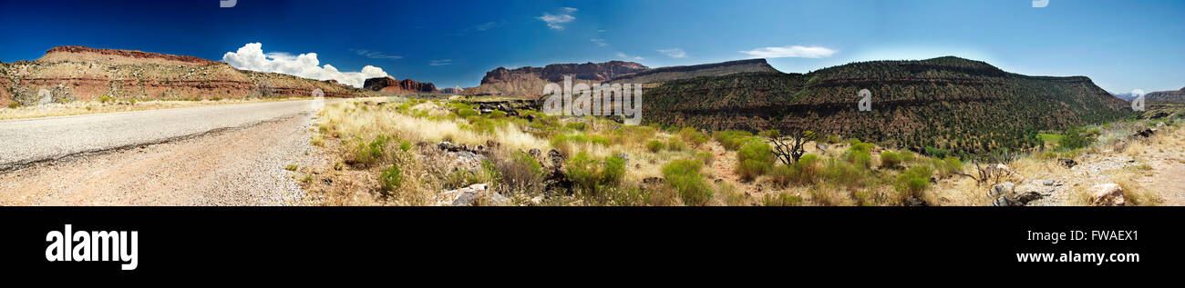
{"label": "large puffy white cloud above the red hillside on the left", "polygon": [[320,65],[316,53],[293,55],[283,52],[263,53],[263,44],[249,42],[236,52],[223,54],[223,61],[236,68],[290,74],[318,80],[337,80],[338,83],[361,87],[369,78],[387,77],[383,68],[366,65],[360,72],[341,72],[333,65]]}

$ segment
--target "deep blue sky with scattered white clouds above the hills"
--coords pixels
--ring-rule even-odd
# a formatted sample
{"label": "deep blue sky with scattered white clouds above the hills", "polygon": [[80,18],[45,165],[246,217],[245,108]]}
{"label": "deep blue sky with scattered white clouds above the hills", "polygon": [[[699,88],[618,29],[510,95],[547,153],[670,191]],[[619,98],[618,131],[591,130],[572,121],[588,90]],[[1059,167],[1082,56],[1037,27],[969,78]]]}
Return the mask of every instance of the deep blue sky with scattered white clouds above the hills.
{"label": "deep blue sky with scattered white clouds above the hills", "polygon": [[755,55],[779,57],[769,61],[783,72],[957,55],[1023,74],[1087,76],[1112,92],[1185,86],[1185,0],[1042,8],[1031,0],[238,0],[231,8],[218,0],[0,0],[0,27],[5,63],[62,45],[224,60],[258,42],[277,59],[316,53],[321,66],[370,65],[440,87],[475,86],[499,66],[660,67]]}

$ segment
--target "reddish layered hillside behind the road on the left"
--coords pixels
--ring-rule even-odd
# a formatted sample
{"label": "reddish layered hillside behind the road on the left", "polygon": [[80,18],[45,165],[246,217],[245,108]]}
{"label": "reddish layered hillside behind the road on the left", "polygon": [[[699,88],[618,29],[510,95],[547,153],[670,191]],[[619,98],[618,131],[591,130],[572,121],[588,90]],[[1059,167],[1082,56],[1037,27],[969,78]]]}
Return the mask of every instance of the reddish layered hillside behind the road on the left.
{"label": "reddish layered hillside behind the road on the left", "polygon": [[196,57],[62,46],[36,61],[0,63],[0,105],[34,105],[41,89],[52,102],[213,99],[309,96],[354,97],[364,91],[333,80],[242,71]]}

